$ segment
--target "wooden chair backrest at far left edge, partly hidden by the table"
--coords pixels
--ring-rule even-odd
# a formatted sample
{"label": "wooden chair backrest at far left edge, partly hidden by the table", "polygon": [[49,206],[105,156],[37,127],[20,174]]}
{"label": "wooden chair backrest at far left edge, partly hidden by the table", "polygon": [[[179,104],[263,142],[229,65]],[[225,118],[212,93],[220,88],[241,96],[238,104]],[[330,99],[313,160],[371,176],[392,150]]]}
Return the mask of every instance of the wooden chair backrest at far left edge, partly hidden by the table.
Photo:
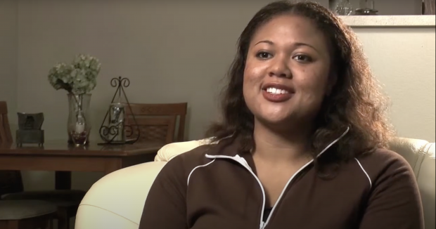
{"label": "wooden chair backrest at far left edge, partly hidden by the table", "polygon": [[[8,105],[0,101],[0,145],[12,144],[11,128],[8,120]],[[20,171],[0,170],[0,197],[6,193],[23,192],[23,180]]]}

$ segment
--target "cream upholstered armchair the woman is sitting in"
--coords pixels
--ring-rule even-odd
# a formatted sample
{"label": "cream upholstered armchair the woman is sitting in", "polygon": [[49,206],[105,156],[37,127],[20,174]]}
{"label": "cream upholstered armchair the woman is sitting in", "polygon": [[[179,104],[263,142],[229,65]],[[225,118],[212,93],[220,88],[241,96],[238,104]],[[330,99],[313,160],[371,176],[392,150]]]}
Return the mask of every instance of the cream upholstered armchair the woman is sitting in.
{"label": "cream upholstered armchair the woman is sitting in", "polygon": [[[155,162],[130,166],[108,174],[86,193],[76,216],[76,229],[137,229],[143,204],[155,176],[170,159],[209,140],[171,143],[162,147]],[[435,143],[397,138],[390,148],[402,155],[418,178],[425,228],[435,228]]]}

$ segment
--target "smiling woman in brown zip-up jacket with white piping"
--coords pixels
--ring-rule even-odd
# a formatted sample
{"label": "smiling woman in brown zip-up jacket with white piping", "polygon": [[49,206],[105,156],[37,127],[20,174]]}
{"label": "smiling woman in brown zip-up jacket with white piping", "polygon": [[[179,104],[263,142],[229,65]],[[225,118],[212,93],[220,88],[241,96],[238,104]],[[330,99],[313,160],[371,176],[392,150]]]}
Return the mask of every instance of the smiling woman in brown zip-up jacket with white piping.
{"label": "smiling woman in brown zip-up jacket with white piping", "polygon": [[167,163],[140,229],[423,228],[413,171],[386,150],[383,96],[356,36],[326,8],[262,8],[222,108],[217,144]]}

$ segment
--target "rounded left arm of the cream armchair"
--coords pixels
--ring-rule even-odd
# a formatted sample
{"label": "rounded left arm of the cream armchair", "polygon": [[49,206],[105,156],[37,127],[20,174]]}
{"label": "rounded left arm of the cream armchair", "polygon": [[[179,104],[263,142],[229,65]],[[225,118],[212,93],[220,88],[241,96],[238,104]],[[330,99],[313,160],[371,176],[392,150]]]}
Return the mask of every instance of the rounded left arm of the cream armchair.
{"label": "rounded left arm of the cream armchair", "polygon": [[77,209],[75,229],[138,229],[148,191],[165,164],[136,164],[98,180]]}

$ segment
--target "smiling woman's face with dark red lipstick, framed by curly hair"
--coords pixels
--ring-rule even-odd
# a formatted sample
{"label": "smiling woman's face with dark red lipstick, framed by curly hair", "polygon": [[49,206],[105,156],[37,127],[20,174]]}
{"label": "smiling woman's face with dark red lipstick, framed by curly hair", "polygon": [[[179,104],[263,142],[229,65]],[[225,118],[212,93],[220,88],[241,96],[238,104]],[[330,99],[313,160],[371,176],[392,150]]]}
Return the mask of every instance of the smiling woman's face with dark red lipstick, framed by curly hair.
{"label": "smiling woman's face with dark red lipstick, framed by curly hair", "polygon": [[281,15],[259,27],[245,63],[243,96],[257,121],[312,120],[333,86],[323,33],[307,18]]}

